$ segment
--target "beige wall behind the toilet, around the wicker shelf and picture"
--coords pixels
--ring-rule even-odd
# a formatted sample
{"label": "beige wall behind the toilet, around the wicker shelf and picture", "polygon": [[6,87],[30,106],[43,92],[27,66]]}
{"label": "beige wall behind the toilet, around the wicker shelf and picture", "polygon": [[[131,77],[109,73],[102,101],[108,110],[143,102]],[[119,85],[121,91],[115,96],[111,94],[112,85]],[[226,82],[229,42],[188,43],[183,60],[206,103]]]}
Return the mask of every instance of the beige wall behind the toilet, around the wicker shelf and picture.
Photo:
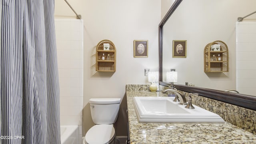
{"label": "beige wall behind the toilet, around the wicker shelf and picture", "polygon": [[[83,134],[94,125],[90,98],[123,98],[126,84],[148,84],[144,68],[158,71],[159,0],[69,0],[84,20]],[[64,0],[55,0],[55,18],[74,19]],[[116,46],[116,72],[95,71],[95,48],[101,40]],[[133,57],[133,40],[148,40],[148,58]]]}

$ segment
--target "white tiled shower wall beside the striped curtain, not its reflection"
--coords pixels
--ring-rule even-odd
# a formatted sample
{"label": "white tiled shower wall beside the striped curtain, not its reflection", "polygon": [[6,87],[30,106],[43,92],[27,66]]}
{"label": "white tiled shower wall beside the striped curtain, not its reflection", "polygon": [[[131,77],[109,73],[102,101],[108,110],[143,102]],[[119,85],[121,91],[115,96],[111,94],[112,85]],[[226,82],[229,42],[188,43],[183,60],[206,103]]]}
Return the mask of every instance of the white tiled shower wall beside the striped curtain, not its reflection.
{"label": "white tiled shower wall beside the striped curtain, not its reflection", "polygon": [[60,125],[78,125],[82,140],[83,21],[55,19],[60,78]]}

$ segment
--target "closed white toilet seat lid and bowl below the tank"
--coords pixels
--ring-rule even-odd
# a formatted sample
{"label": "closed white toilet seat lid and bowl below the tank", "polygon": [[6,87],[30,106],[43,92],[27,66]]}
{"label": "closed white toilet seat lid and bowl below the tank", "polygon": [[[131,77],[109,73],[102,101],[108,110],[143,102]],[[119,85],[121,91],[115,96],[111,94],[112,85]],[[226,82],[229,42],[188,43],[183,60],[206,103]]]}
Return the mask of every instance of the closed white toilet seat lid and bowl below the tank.
{"label": "closed white toilet seat lid and bowl below the tank", "polygon": [[108,144],[115,137],[113,124],[97,124],[92,126],[85,135],[87,144]]}

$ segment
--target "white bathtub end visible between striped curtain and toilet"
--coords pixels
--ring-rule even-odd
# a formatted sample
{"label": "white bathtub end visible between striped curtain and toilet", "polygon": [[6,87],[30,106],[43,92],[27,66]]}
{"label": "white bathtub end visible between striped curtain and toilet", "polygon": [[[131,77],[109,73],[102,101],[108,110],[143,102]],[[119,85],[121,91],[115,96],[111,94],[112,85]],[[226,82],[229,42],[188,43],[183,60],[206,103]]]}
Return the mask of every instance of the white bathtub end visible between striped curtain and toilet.
{"label": "white bathtub end visible between striped curtain and toilet", "polygon": [[61,144],[78,144],[78,126],[60,126]]}

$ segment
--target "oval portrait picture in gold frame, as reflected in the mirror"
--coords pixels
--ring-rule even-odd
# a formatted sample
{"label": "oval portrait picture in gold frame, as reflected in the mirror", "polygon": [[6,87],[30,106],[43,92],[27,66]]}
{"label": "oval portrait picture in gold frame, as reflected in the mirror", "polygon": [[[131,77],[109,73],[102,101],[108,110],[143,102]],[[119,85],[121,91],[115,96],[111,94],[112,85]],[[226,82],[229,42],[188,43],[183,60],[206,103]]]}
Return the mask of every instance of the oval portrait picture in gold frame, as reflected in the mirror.
{"label": "oval portrait picture in gold frame, as reflected in the mirror", "polygon": [[172,41],[172,57],[173,58],[187,57],[187,40]]}

